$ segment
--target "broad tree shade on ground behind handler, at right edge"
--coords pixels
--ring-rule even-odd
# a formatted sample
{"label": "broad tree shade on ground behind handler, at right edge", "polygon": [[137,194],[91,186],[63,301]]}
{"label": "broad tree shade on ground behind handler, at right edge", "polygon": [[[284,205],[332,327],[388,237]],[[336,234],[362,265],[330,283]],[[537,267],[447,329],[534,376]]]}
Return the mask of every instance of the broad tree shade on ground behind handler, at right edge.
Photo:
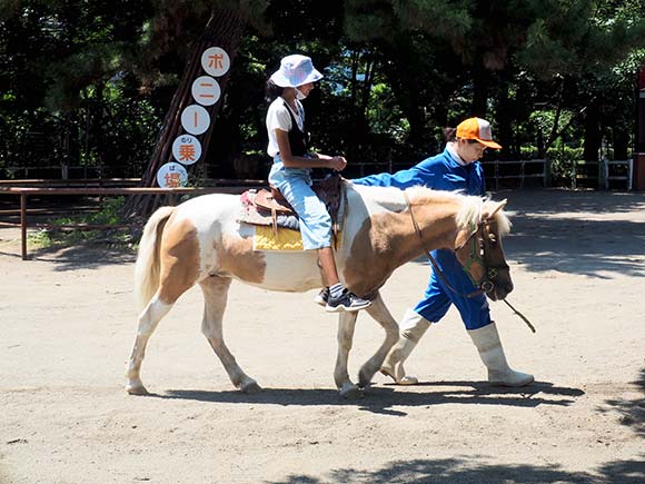
{"label": "broad tree shade on ground behind handler, at right edge", "polygon": [[529,271],[558,270],[589,277],[621,273],[645,277],[645,223],[563,217],[562,214],[621,215],[645,210],[645,194],[515,190],[508,197],[513,230],[507,258]]}

